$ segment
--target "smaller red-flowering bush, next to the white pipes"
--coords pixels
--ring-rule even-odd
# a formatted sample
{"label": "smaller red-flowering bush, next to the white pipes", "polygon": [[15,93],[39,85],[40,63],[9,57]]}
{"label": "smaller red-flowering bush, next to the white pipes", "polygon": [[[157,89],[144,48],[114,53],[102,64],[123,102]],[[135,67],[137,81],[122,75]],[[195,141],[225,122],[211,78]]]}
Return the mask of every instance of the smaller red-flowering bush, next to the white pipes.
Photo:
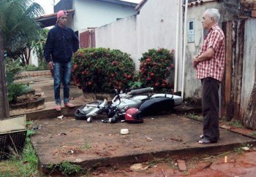
{"label": "smaller red-flowering bush, next to the white pipes", "polygon": [[159,92],[173,89],[174,50],[151,49],[140,58],[139,79],[143,87],[154,87]]}

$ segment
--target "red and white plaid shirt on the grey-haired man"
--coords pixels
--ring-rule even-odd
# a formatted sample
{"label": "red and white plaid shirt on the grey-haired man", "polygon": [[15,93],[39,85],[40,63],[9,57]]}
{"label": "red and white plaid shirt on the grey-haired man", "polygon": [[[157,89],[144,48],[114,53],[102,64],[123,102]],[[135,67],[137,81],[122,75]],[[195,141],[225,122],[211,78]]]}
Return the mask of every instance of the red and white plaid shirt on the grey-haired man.
{"label": "red and white plaid shirt on the grey-haired man", "polygon": [[218,24],[213,25],[208,31],[200,55],[210,47],[214,49],[214,56],[197,64],[197,79],[212,77],[221,82],[225,67],[225,36]]}

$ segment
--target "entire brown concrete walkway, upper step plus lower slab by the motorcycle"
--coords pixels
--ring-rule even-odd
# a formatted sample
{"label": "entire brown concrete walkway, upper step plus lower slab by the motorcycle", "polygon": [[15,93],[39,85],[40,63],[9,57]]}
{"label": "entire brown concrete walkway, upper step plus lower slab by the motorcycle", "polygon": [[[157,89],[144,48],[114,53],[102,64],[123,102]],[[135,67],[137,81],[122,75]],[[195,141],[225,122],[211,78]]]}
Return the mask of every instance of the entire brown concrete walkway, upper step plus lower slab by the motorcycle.
{"label": "entire brown concrete walkway, upper step plus lower slab by the motorcycle", "polygon": [[[82,90],[72,86],[71,103],[76,108],[63,108],[56,112],[53,101],[53,79],[51,76],[28,76],[18,82],[29,82],[30,86],[45,98],[45,108],[26,112],[34,120],[36,133],[31,142],[43,168],[64,161],[75,162],[86,168],[95,165],[135,163],[153,160],[155,157],[184,157],[195,154],[212,154],[232,150],[241,144],[256,144],[247,138],[228,130],[220,130],[218,143],[200,145],[202,124],[177,114],[162,114],[146,117],[143,124],[102,123],[101,119],[91,124],[75,120],[75,109],[86,103]],[[184,107],[177,111],[186,111]],[[64,115],[63,119],[57,116]],[[120,130],[128,128],[129,134]]]}

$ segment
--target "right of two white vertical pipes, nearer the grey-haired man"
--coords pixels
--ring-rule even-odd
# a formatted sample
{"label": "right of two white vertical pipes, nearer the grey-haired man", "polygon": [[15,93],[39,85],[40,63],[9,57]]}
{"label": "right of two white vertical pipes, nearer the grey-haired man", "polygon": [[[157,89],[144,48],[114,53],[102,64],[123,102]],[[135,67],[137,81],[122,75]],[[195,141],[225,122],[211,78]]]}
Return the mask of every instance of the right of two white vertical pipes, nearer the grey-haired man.
{"label": "right of two white vertical pipes, nearer the grey-haired man", "polygon": [[182,88],[181,88],[181,97],[184,100],[184,79],[185,79],[185,63],[186,63],[186,44],[187,44],[187,4],[185,4],[185,14],[184,14],[184,34],[183,34],[183,63],[182,63]]}

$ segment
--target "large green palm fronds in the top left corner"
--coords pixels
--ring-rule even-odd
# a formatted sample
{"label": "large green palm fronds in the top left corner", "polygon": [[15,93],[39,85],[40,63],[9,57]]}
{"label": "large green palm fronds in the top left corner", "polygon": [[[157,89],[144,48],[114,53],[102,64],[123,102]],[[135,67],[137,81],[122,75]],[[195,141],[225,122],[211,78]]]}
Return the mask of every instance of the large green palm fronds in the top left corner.
{"label": "large green palm fronds in the top left corner", "polygon": [[36,18],[43,12],[42,7],[32,0],[0,1],[0,41],[3,40],[7,55],[20,58],[23,66],[29,64],[28,50],[31,50],[31,42],[41,31]]}

